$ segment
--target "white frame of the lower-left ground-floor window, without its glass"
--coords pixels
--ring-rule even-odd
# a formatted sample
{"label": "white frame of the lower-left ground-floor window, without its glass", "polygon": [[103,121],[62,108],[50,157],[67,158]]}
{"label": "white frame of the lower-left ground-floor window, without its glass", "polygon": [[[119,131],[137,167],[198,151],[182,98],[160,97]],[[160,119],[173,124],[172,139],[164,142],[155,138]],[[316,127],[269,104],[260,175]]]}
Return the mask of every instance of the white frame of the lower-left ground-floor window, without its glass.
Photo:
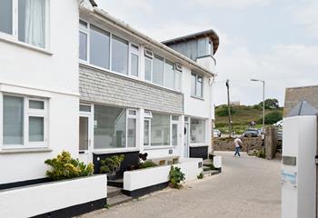
{"label": "white frame of the lower-left ground-floor window, without its glass", "polygon": [[[13,150],[13,149],[29,149],[29,148],[47,148],[48,147],[48,99],[41,97],[30,97],[23,94],[7,94],[3,93],[1,95],[0,108],[1,108],[1,118],[4,117],[4,96],[15,96],[24,99],[24,131],[23,144],[4,144],[4,126],[1,123],[1,149]],[[29,108],[29,101],[41,101],[44,102],[44,109]],[[43,117],[44,118],[44,141],[43,142],[29,142],[29,117]]]}

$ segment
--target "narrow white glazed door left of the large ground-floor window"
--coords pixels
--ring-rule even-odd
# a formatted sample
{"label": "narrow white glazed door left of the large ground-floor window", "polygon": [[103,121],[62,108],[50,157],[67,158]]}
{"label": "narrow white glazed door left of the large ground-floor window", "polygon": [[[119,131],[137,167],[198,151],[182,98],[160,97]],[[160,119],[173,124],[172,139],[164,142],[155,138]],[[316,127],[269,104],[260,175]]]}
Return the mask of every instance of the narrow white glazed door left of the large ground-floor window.
{"label": "narrow white glazed door left of the large ground-floor window", "polygon": [[79,117],[79,160],[84,163],[91,163],[91,134],[90,116],[81,114]]}

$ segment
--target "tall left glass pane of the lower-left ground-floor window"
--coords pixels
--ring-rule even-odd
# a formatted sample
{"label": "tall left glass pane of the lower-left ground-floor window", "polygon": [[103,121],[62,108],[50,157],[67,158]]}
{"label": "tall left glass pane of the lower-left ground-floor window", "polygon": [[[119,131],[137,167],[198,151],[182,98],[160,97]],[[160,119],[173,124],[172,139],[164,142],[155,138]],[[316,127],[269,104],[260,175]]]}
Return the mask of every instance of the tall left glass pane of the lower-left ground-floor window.
{"label": "tall left glass pane of the lower-left ground-floor window", "polygon": [[24,99],[4,96],[4,144],[24,142]]}

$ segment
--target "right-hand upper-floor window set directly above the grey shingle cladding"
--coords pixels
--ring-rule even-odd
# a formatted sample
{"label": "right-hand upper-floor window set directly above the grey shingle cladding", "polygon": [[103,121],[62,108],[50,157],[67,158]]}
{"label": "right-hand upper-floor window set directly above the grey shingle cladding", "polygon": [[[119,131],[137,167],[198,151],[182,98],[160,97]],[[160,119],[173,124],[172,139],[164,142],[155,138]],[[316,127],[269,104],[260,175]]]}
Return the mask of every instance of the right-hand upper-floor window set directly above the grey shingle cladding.
{"label": "right-hand upper-floor window set directly above the grey shingle cladding", "polygon": [[146,50],[144,53],[144,79],[154,84],[159,84],[167,88],[181,90],[182,66],[153,54]]}

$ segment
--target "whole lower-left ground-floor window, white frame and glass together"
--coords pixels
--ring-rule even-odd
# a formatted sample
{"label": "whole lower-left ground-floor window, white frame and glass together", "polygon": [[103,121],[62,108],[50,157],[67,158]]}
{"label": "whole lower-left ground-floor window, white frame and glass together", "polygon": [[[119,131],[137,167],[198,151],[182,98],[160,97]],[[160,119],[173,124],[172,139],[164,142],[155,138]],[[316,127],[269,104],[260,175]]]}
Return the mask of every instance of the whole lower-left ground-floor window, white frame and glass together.
{"label": "whole lower-left ground-floor window, white frame and glass together", "polygon": [[3,144],[7,148],[46,146],[47,101],[3,96]]}

